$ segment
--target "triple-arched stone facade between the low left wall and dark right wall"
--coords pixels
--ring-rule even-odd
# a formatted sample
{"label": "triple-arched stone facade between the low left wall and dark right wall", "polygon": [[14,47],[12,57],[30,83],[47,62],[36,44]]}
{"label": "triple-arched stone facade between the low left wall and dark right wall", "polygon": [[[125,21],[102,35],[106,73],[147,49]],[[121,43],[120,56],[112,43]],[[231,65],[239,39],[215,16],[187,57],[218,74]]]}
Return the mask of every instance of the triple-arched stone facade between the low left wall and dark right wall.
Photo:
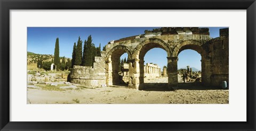
{"label": "triple-arched stone facade between the low left wall and dark right wall", "polygon": [[[163,30],[162,30],[163,29]],[[202,82],[211,84],[212,64],[211,39],[208,28],[161,28],[158,32],[114,40],[106,46],[106,75],[107,85],[117,83],[116,63],[120,56],[127,52],[129,62],[129,87],[142,89],[144,78],[144,56],[152,48],[162,48],[166,51],[168,87],[178,87],[178,54],[186,49],[197,51],[202,56]],[[222,39],[228,39],[228,36]],[[226,40],[228,42],[228,40]],[[214,41],[215,42],[215,41]],[[223,43],[223,40],[222,40]],[[218,65],[217,65],[218,66]],[[217,67],[216,66],[216,67]],[[223,72],[223,71],[222,71]],[[218,77],[220,78],[220,77]]]}

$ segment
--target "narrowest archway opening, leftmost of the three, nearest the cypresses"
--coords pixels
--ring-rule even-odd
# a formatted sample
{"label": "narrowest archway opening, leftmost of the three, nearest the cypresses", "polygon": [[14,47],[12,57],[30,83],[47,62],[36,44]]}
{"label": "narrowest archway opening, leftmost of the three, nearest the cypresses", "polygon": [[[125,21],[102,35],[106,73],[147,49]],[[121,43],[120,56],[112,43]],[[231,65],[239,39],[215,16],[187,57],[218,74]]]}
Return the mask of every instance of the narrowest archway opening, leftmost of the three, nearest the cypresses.
{"label": "narrowest archway opening, leftmost of the three, nearest the cypresses", "polygon": [[127,58],[127,52],[122,49],[117,49],[111,54],[111,76],[113,85],[128,86],[129,64],[127,63]]}

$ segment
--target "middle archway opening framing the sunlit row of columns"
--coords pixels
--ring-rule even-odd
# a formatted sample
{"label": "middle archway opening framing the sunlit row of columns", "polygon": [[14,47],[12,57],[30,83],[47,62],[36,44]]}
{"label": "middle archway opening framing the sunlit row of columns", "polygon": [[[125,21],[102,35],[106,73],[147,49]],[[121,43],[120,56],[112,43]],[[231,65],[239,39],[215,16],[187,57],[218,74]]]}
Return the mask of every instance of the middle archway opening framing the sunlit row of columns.
{"label": "middle archway opening framing the sunlit row of columns", "polygon": [[139,53],[139,89],[145,91],[167,90],[167,75],[165,75],[165,79],[162,76],[164,66],[167,66],[165,47],[158,43],[143,45]]}

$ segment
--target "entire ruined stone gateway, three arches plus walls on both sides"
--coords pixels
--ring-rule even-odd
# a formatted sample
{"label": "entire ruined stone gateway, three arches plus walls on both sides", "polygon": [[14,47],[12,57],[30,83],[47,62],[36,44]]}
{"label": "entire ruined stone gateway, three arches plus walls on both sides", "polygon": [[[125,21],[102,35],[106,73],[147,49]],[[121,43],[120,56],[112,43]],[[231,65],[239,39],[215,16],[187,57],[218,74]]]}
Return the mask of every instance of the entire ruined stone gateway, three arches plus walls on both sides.
{"label": "entire ruined stone gateway, three arches plus walls on both sides", "polygon": [[[220,29],[220,37],[212,39],[209,28],[164,27],[145,30],[145,34],[113,40],[106,45],[106,52],[95,57],[93,67],[74,66],[71,83],[85,86],[107,86],[120,83],[118,61],[127,53],[129,63],[129,88],[142,89],[144,83],[144,56],[152,48],[162,48],[167,56],[168,88],[178,88],[178,55],[191,49],[201,54],[202,84],[220,86],[228,80],[229,30]],[[193,58],[189,58],[193,59]]]}

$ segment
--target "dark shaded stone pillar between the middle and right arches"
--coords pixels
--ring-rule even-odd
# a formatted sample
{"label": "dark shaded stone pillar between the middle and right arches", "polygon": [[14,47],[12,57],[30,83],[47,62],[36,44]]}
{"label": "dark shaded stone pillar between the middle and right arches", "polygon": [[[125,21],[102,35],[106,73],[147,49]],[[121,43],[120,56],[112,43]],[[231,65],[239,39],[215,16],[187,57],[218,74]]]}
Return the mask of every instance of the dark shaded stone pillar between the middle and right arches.
{"label": "dark shaded stone pillar between the middle and right arches", "polygon": [[178,88],[178,57],[167,57],[168,88]]}

